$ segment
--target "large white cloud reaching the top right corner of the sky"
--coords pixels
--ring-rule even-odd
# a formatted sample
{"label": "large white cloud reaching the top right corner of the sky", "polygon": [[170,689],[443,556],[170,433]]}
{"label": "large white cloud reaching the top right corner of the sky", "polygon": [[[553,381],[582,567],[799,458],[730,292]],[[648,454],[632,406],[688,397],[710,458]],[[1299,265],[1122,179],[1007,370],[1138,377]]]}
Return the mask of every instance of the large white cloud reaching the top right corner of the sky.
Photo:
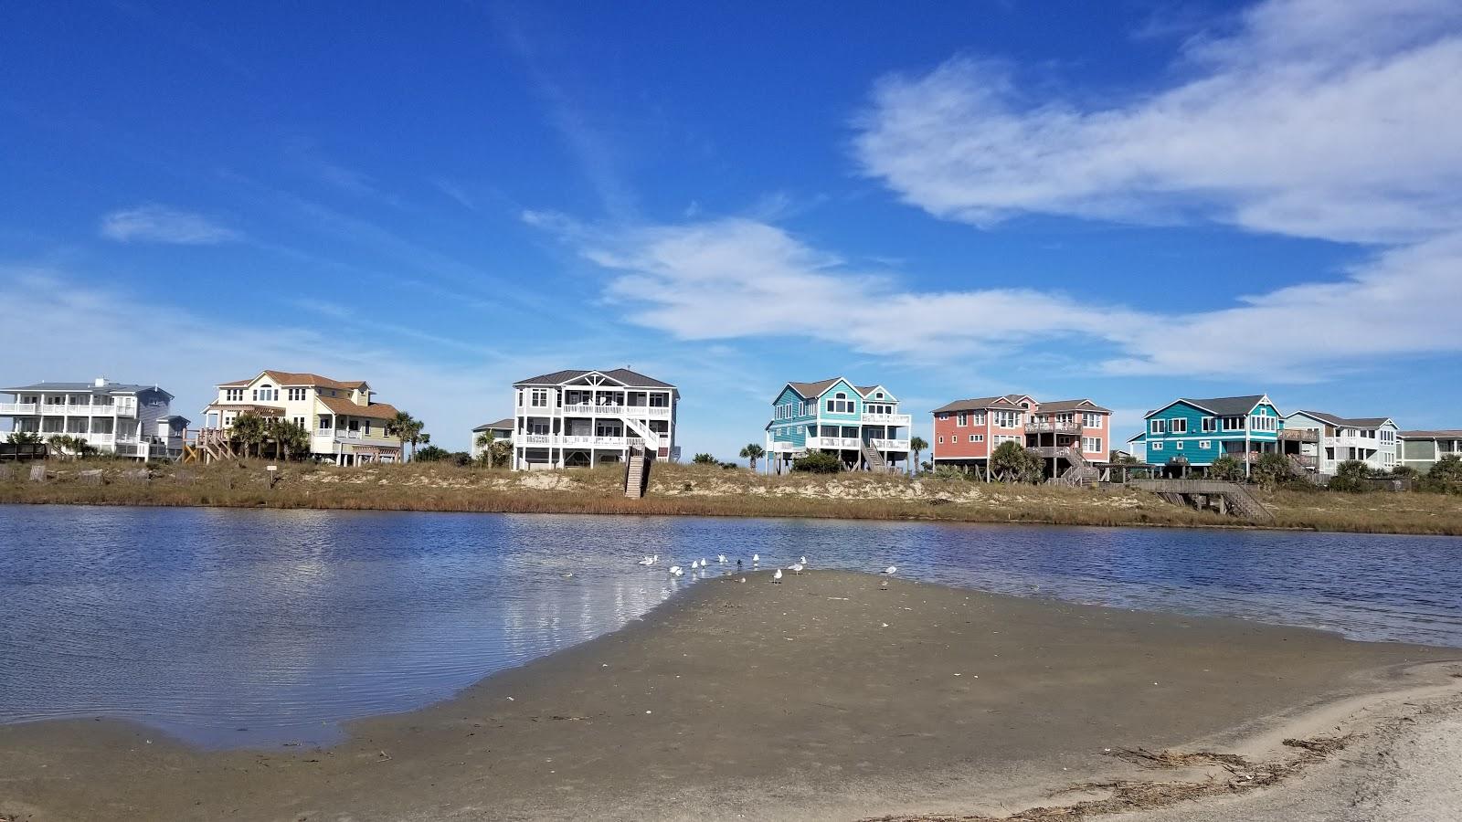
{"label": "large white cloud reaching the top right corner of the sky", "polygon": [[1116,105],[1032,99],[956,57],[890,76],[860,120],[863,171],[987,225],[1019,214],[1338,241],[1462,224],[1462,6],[1276,0],[1189,42],[1181,80]]}

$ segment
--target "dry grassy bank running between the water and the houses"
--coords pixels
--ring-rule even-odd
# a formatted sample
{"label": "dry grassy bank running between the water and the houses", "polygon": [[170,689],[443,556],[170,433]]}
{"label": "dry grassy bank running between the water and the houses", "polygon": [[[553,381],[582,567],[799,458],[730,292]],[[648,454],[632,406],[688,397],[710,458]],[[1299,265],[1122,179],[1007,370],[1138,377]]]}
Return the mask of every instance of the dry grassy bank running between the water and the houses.
{"label": "dry grassy bank running between the water and the houses", "polygon": [[[98,477],[95,471],[101,471]],[[870,474],[760,477],[747,470],[656,465],[649,496],[624,499],[621,470],[515,474],[444,464],[336,468],[282,465],[269,486],[259,461],[178,465],[139,474],[135,464],[0,467],[0,502],[504,513],[816,516],[1057,525],[1232,527],[1241,519],[1170,505],[1126,489],[1004,486]],[[1273,527],[1377,534],[1462,534],[1462,499],[1425,493],[1276,491],[1263,494]]]}

